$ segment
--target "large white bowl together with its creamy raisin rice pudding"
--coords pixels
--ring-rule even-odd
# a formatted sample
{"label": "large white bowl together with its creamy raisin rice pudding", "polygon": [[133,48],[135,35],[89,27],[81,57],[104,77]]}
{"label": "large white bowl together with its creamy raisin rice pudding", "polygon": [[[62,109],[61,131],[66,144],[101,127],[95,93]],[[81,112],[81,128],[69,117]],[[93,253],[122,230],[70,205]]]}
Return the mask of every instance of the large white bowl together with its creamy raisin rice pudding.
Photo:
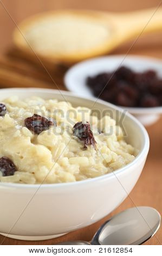
{"label": "large white bowl together with its creamy raisin rice pudding", "polygon": [[58,90],[2,89],[0,101],[2,234],[56,237],[100,220],[127,197],[149,148],[135,118]]}

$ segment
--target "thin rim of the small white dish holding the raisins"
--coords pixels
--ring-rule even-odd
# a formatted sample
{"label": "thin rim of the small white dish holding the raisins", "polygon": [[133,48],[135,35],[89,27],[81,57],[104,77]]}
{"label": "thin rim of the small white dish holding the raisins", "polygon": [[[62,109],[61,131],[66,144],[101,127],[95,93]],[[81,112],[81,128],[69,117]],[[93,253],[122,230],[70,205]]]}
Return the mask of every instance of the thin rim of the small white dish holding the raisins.
{"label": "thin rim of the small white dish holding the raisins", "polygon": [[[128,54],[127,56],[125,56],[125,54],[111,54],[111,55],[108,55],[108,56],[100,56],[100,57],[94,57],[94,58],[90,58],[90,59],[87,59],[87,60],[82,60],[81,62],[79,63],[76,63],[74,64],[73,66],[71,66],[67,71],[66,73],[64,74],[64,77],[63,77],[63,81],[64,81],[64,84],[66,86],[66,88],[69,90],[69,87],[67,86],[67,81],[68,81],[68,75],[69,75],[69,72],[72,72],[73,69],[79,67],[80,65],[83,65],[83,64],[88,64],[90,62],[94,62],[94,61],[100,61],[100,60],[103,60],[103,59],[119,59],[119,58],[123,58],[123,59],[136,59],[136,60],[142,60],[142,61],[147,61],[147,62],[153,62],[153,63],[157,63],[159,65],[161,65],[162,67],[162,60],[159,59],[159,58],[155,58],[155,57],[148,57],[148,56],[142,56],[142,55],[133,55],[133,54]],[[72,90],[70,90],[70,92],[72,92]],[[72,92],[74,93],[74,92]],[[75,94],[77,94],[75,92]],[[91,96],[88,96],[89,99]],[[93,94],[92,94],[92,97]],[[97,98],[97,97],[95,97]],[[111,103],[111,102],[108,102],[108,103]],[[162,113],[162,106],[158,106],[158,107],[124,107],[124,106],[119,106],[119,105],[115,105],[115,106],[118,106],[119,108],[123,108],[123,109],[126,109],[127,111],[129,111],[131,114],[157,114],[157,113]]]}

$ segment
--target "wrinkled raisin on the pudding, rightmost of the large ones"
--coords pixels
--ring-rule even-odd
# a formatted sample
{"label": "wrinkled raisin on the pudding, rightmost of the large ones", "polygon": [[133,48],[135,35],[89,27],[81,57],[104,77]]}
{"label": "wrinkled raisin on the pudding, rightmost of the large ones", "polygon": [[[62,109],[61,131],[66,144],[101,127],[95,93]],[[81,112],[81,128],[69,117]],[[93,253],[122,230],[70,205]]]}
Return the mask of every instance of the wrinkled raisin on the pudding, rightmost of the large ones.
{"label": "wrinkled raisin on the pudding, rightmost of the large ones", "polygon": [[96,141],[93,136],[93,132],[90,130],[90,124],[88,122],[78,122],[73,127],[73,134],[84,143],[84,149],[87,145],[93,145],[95,147]]}

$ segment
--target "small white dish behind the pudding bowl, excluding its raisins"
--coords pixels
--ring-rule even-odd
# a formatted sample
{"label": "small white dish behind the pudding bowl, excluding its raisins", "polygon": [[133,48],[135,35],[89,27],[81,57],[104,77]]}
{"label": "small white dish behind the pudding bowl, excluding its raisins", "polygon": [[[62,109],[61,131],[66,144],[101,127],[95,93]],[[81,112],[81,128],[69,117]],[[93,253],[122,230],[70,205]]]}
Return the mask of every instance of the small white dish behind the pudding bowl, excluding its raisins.
{"label": "small white dish behind the pudding bowl, excluding its raisins", "polygon": [[[92,92],[86,86],[86,78],[100,72],[111,72],[119,66],[125,65],[136,72],[154,69],[162,77],[162,61],[140,56],[113,55],[93,58],[74,65],[64,76],[64,83],[70,92],[80,96],[91,97]],[[127,107],[129,113],[135,115],[142,124],[151,125],[157,121],[162,113],[162,107]]]}

